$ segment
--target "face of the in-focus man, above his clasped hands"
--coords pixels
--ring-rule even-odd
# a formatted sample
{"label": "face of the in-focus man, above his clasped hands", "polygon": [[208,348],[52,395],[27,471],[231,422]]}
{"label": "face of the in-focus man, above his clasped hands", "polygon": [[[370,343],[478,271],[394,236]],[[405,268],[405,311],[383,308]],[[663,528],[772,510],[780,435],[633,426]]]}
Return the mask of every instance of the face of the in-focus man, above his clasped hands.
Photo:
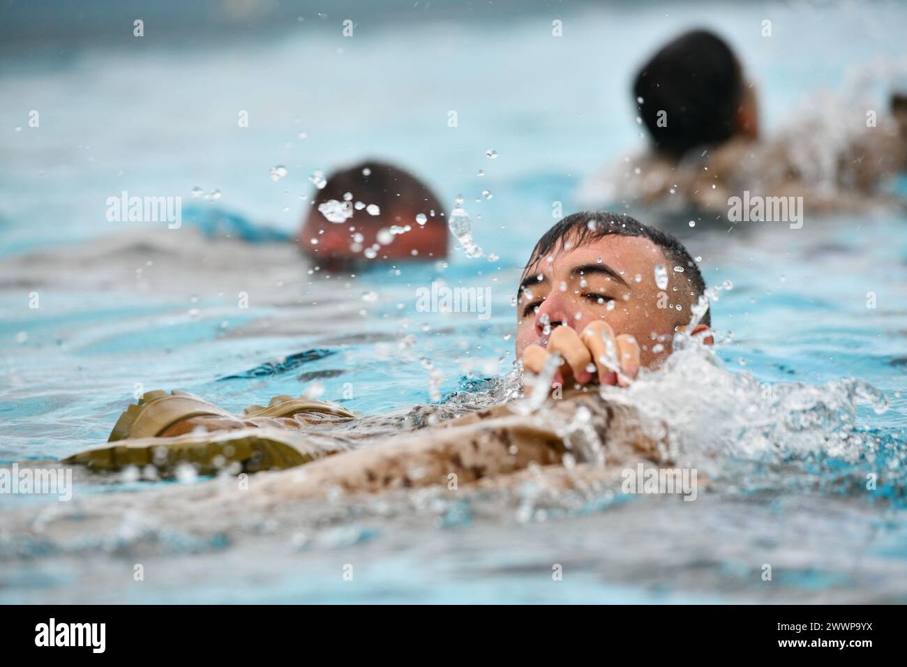
{"label": "face of the in-focus man, above his clasped hands", "polygon": [[[599,319],[610,324],[615,335],[636,338],[642,366],[665,358],[678,315],[689,315],[686,306],[680,313],[676,309],[678,301],[688,302],[689,289],[687,281],[670,270],[661,249],[648,239],[618,234],[576,248],[568,239],[565,245],[523,273],[517,358],[529,345],[546,347],[548,332],[559,324],[581,331]],[[658,289],[658,265],[668,267],[668,289]]]}

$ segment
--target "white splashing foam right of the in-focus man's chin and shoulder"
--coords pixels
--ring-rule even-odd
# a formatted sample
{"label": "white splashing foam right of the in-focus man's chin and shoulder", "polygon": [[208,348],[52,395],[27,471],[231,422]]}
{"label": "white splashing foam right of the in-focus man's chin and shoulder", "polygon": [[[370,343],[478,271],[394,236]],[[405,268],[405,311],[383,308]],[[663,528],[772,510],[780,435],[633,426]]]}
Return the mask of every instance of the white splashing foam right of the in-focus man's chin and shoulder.
{"label": "white splashing foam right of the in-focus man's chin and shoulder", "polygon": [[[867,424],[867,412],[883,414],[888,400],[860,379],[759,382],[728,372],[697,340],[678,338],[664,368],[605,393],[636,407],[652,436],[666,436],[667,455],[679,466],[722,484],[788,489],[819,484],[825,472],[848,478],[854,493],[865,495],[860,486],[874,472],[886,487],[879,495],[903,488],[903,444]],[[744,467],[748,476],[741,476]]]}

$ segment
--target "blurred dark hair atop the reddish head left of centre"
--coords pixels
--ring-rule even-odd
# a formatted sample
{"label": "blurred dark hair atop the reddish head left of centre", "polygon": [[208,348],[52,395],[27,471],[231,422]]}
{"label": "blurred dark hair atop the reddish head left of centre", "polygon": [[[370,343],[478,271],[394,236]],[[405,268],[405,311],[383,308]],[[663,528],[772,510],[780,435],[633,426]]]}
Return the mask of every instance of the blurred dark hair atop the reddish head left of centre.
{"label": "blurred dark hair atop the reddish head left of centre", "polygon": [[[388,215],[401,211],[407,214],[424,213],[428,218],[426,225],[446,225],[445,219],[441,217],[444,209],[434,192],[413,174],[392,164],[367,160],[332,173],[325,187],[317,191],[315,204],[312,206],[313,214],[317,213],[318,206],[326,201],[344,201],[346,192],[352,192],[353,201],[377,204],[378,208]],[[431,211],[434,211],[434,216]],[[371,218],[369,215],[359,214],[356,215],[356,224],[367,224],[370,221],[377,223],[382,217]],[[414,220],[404,222],[414,224]]]}

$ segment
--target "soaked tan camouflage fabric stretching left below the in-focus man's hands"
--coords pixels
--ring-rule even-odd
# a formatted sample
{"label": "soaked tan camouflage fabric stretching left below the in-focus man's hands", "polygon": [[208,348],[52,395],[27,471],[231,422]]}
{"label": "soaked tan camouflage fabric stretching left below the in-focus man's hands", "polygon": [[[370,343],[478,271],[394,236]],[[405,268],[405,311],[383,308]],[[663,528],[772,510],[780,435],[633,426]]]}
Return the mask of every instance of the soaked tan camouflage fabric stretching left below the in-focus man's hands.
{"label": "soaked tan camouflage fabric stretching left below the in-focus man's hands", "polygon": [[[585,440],[597,441],[600,463],[627,456],[657,457],[625,407],[610,407],[594,396],[551,401],[543,417],[521,415],[512,405],[454,420],[447,425],[390,438],[363,449],[328,456],[263,480],[262,489],[281,497],[311,497],[332,488],[375,492],[389,488],[444,485],[455,488],[531,466],[561,464],[565,454],[584,460],[576,432],[564,429],[580,405],[592,406]],[[561,427],[555,427],[560,424]],[[610,436],[609,436],[610,434]],[[631,452],[628,452],[632,450]],[[585,459],[585,460],[588,460]]]}

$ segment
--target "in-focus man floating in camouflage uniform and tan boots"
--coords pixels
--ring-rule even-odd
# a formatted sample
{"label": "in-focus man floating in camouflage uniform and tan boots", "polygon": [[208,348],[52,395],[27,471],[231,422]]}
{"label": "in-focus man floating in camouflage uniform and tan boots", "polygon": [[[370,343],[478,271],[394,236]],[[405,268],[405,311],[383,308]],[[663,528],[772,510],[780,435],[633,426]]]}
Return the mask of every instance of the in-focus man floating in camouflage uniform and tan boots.
{"label": "in-focus man floating in camouflage uniform and tan boots", "polygon": [[[665,267],[674,269],[669,285],[659,279]],[[301,466],[257,483],[283,498],[447,485],[451,475],[459,484],[506,484],[532,466],[556,466],[569,486],[568,453],[586,470],[668,464],[658,439],[667,431],[649,435],[632,407],[600,389],[619,391],[639,368],[658,368],[679,332],[710,343],[705,289],[674,237],[629,216],[577,213],[541,237],[517,288],[517,357],[540,397],[554,389],[555,400],[536,402],[533,388],[529,398],[362,444],[331,429],[368,417],[327,401],[274,397],[235,415],[185,392],[153,391],[122,414],[109,444],[64,463],[156,466],[163,475],[180,464],[205,475]],[[580,410],[588,427],[562,427]]]}

